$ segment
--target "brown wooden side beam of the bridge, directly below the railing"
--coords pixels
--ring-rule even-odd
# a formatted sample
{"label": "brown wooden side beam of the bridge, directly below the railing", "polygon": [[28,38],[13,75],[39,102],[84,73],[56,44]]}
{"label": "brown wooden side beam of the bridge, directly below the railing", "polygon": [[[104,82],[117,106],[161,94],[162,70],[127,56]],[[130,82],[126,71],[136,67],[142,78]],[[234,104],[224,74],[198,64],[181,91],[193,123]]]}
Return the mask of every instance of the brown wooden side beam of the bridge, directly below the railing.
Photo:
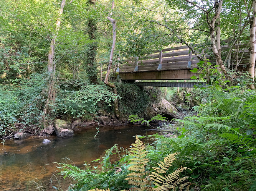
{"label": "brown wooden side beam of the bridge, directly below the railing", "polygon": [[155,79],[191,79],[197,76],[188,69],[178,70],[154,70],[154,71],[136,71],[136,72],[119,72],[122,80],[155,80]]}

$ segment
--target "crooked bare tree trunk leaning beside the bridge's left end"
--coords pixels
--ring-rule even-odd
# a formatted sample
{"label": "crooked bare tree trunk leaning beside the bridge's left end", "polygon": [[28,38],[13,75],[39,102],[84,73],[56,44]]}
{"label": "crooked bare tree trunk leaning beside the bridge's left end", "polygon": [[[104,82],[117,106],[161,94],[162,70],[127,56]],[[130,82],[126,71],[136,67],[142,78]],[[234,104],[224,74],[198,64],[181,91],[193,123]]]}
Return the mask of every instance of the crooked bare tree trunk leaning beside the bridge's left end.
{"label": "crooked bare tree trunk leaning beside the bridge's left end", "polygon": [[[115,1],[112,1],[112,7],[111,10],[114,9],[114,3]],[[112,13],[109,14],[109,16],[107,16],[107,19],[112,23],[113,26],[113,43],[112,43],[112,48],[111,48],[111,52],[110,52],[110,57],[109,57],[109,65],[107,67],[107,74],[106,74],[106,78],[104,80],[104,84],[106,84],[107,86],[111,87],[113,90],[113,93],[117,95],[117,91],[116,91],[116,86],[113,83],[110,83],[108,81],[109,79],[109,74],[111,71],[111,67],[112,67],[112,62],[113,62],[113,54],[114,54],[114,49],[115,49],[115,45],[116,45],[116,20],[112,19],[110,16],[112,15]],[[120,118],[120,113],[118,110],[118,102],[117,102],[117,98],[114,100],[114,112],[115,112],[115,116],[117,119]]]}

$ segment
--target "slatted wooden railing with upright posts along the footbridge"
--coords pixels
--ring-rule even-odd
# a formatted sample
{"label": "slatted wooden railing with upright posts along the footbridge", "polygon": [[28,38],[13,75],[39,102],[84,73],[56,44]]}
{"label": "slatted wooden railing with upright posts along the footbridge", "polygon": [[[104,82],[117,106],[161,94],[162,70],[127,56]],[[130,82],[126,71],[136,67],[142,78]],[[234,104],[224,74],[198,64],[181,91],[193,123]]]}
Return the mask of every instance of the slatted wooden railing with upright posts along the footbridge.
{"label": "slatted wooden railing with upright posts along the footbridge", "polygon": [[[227,55],[230,49],[230,39],[222,40],[225,43],[221,47],[222,56]],[[194,45],[194,47],[196,47]],[[228,59],[227,65],[246,65],[249,63],[249,47],[246,44],[236,44]],[[210,49],[208,49],[210,50]],[[208,51],[211,52],[211,51]],[[199,53],[202,56],[202,53]],[[206,53],[204,56],[210,59],[211,63],[215,63],[213,54]],[[200,62],[198,58],[188,49],[186,45],[177,46],[173,48],[156,50],[154,53],[144,57],[132,57],[123,60],[119,64],[119,72],[136,72],[136,71],[154,71],[154,70],[179,70],[188,68],[198,68],[197,63]],[[102,70],[106,71],[106,69]]]}

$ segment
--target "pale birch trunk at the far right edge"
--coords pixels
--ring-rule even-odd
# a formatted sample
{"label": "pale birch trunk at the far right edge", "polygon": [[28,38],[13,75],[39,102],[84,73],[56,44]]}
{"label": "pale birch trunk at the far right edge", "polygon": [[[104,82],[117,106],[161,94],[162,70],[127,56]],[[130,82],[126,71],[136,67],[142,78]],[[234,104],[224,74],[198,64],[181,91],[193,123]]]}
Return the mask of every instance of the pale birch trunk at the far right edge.
{"label": "pale birch trunk at the far right edge", "polygon": [[[253,8],[253,15],[251,16],[251,23],[250,23],[250,61],[249,61],[249,74],[251,79],[254,81],[255,75],[255,58],[256,58],[256,0],[253,0],[252,4]],[[254,84],[250,85],[251,89],[255,89]]]}

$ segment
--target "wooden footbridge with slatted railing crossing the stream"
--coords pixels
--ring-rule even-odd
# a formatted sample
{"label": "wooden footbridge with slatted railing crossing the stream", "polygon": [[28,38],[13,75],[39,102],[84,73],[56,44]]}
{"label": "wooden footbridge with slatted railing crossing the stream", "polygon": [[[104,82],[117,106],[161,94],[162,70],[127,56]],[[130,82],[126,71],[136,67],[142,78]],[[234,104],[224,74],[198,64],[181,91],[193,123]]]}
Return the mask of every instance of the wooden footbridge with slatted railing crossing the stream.
{"label": "wooden footbridge with slatted railing crossing the stream", "polygon": [[[225,58],[230,49],[230,39],[222,40],[221,54]],[[194,45],[196,47],[197,45]],[[210,45],[209,45],[210,46]],[[246,67],[249,63],[249,46],[236,44],[226,63],[228,68]],[[208,49],[208,52],[210,49]],[[199,54],[202,56],[202,54]],[[207,55],[211,63],[215,63],[213,54]],[[122,80],[170,80],[191,79],[196,73],[191,72],[198,68],[200,60],[186,45],[157,50],[144,57],[128,58],[113,67],[113,73],[118,72]],[[245,66],[244,66],[245,65]],[[103,71],[106,71],[103,70]],[[181,86],[181,85],[180,85]]]}

